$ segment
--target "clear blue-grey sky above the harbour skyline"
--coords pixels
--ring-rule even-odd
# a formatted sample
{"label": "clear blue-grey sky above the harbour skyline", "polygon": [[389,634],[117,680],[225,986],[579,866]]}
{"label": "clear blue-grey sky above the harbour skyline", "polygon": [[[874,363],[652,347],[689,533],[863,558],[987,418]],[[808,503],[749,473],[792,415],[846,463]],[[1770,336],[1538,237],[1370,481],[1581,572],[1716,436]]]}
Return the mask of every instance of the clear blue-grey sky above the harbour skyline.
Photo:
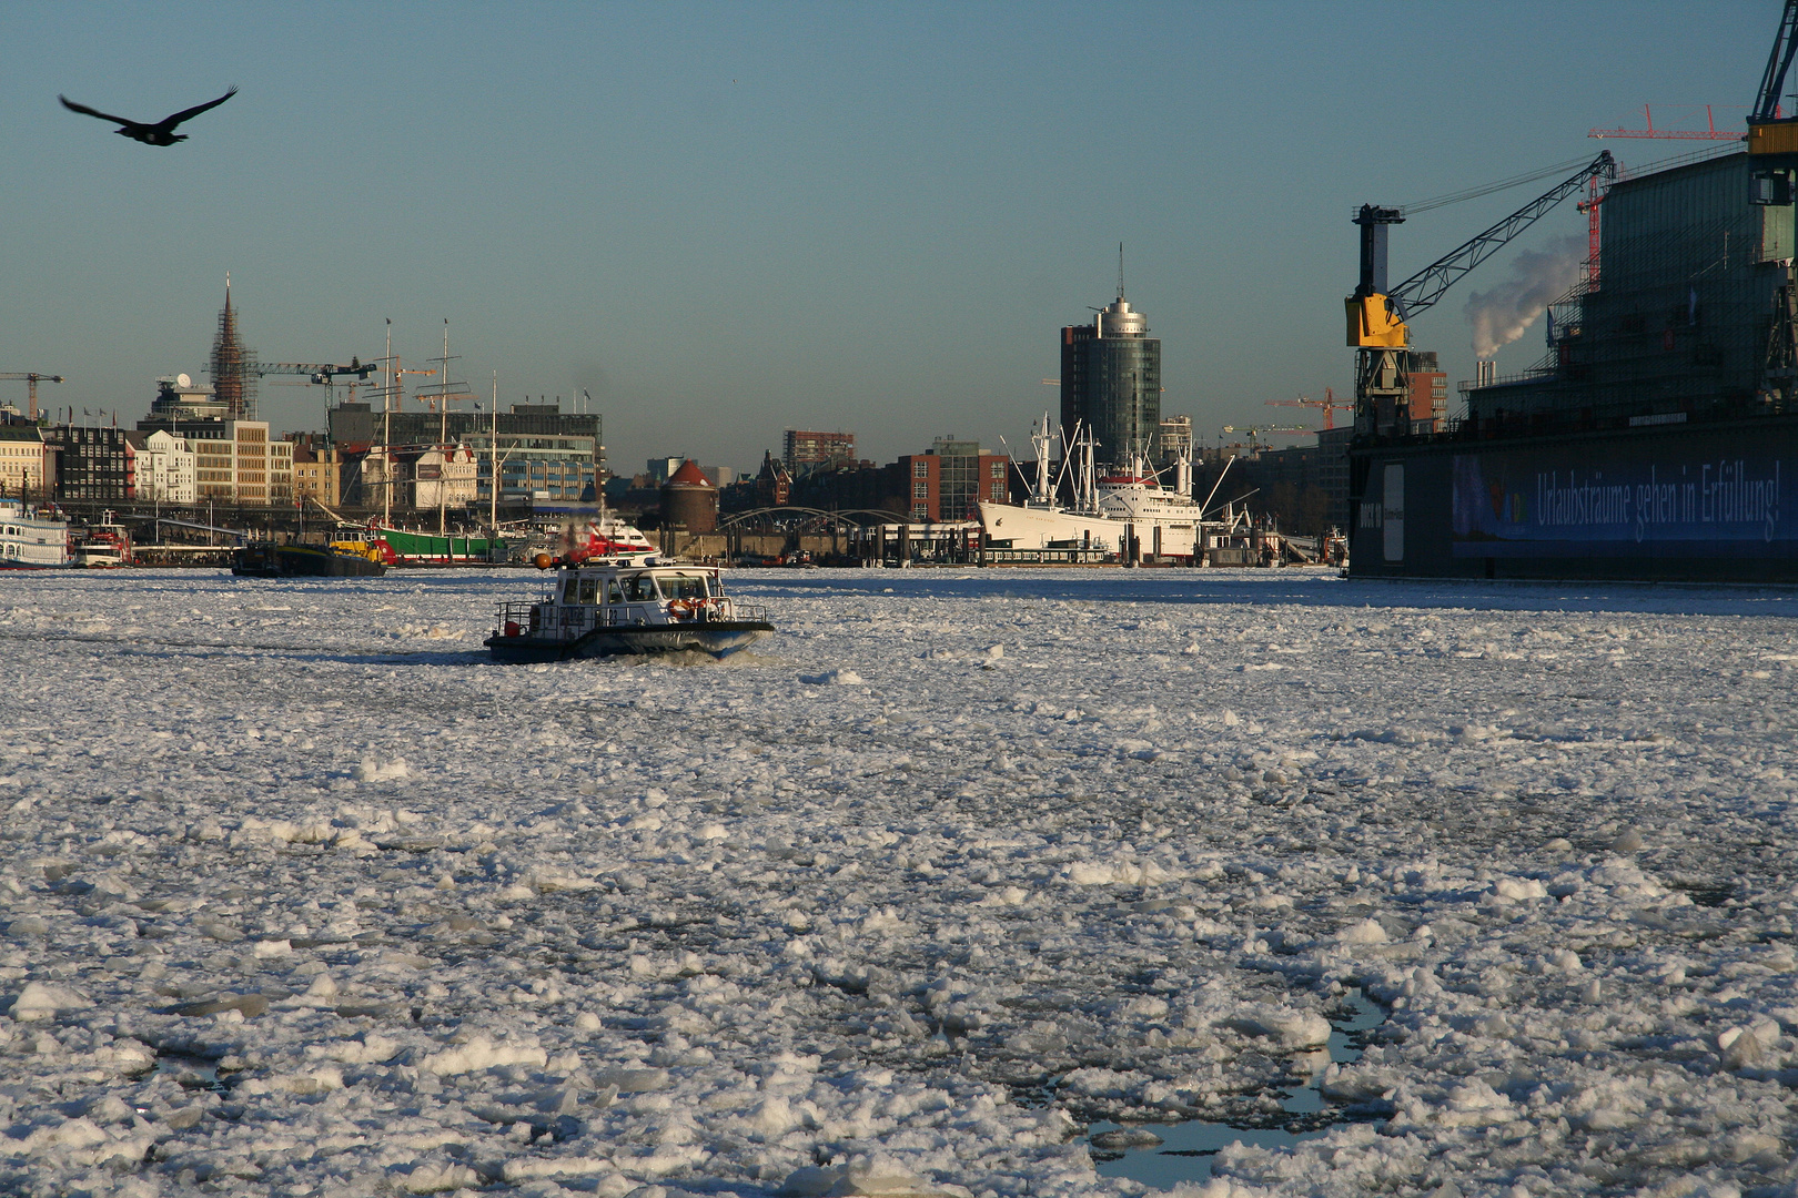
{"label": "clear blue-grey sky above the harbour skyline", "polygon": [[[137,420],[200,374],[225,271],[266,361],[439,352],[502,402],[593,393],[615,469],[750,467],[784,427],[890,460],[1018,447],[1057,330],[1127,291],[1163,411],[1350,386],[1350,210],[1739,126],[1778,4],[92,5],[0,9],[0,370]],[[156,149],[58,93],[155,120]],[[1685,108],[1681,108],[1685,106]],[[1735,108],[1724,108],[1735,106]],[[1606,142],[1625,163],[1688,149]],[[1395,278],[1546,185],[1419,216]],[[1413,323],[1584,232],[1571,201]],[[1539,327],[1500,356],[1518,370]],[[20,386],[22,384],[0,384]],[[23,392],[5,399],[23,399]],[[324,395],[263,388],[279,429]]]}

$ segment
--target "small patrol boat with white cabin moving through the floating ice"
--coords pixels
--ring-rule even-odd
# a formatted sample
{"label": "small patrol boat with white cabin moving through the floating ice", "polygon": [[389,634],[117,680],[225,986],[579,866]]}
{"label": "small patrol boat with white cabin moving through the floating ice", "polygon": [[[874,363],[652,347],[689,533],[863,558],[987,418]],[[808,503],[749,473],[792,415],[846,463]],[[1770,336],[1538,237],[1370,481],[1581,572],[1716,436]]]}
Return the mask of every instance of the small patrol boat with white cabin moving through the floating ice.
{"label": "small patrol boat with white cabin moving through the floating ice", "polygon": [[658,560],[654,553],[550,557],[548,595],[503,603],[487,650],[500,663],[568,661],[696,650],[714,657],[771,634],[766,612],[725,595],[717,566]]}

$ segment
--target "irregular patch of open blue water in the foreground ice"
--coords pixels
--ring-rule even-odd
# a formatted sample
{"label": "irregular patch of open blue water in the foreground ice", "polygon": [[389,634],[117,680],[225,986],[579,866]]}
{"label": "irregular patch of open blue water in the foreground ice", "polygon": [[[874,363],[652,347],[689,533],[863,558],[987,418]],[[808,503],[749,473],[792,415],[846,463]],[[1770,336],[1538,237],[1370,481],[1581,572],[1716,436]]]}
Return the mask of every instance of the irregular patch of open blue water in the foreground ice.
{"label": "irregular patch of open blue water in the foreground ice", "polygon": [[[1386,1022],[1386,1011],[1359,990],[1343,995],[1340,1011],[1331,1017],[1331,1038],[1325,1045],[1331,1063],[1347,1065],[1361,1060],[1368,1035]],[[1331,1124],[1345,1123],[1340,1106],[1329,1106],[1318,1090],[1322,1069],[1304,1085],[1284,1092],[1282,1115],[1277,1126],[1250,1126],[1237,1123],[1187,1123],[1124,1126],[1093,1123],[1088,1130],[1088,1150],[1102,1176],[1126,1176],[1144,1185],[1169,1189],[1179,1182],[1203,1182],[1212,1175],[1212,1160],[1230,1144],[1251,1148],[1293,1148],[1300,1141],[1323,1135]],[[1260,1123],[1260,1121],[1257,1121]],[[1160,1139],[1145,1142],[1144,1132]],[[1144,1141],[1133,1144],[1131,1141]]]}

